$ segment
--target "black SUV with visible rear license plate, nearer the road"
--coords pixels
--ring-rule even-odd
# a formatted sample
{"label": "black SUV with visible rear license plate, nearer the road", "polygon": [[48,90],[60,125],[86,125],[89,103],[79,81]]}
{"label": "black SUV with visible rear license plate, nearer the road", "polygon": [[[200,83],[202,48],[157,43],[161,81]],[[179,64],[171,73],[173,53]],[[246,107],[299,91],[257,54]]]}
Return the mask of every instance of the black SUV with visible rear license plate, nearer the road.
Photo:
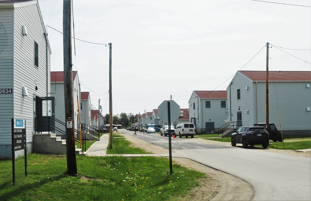
{"label": "black SUV with visible rear license plate, nearer the road", "polygon": [[231,135],[231,145],[235,147],[237,143],[242,143],[243,148],[261,144],[263,148],[269,146],[269,133],[262,126],[241,126]]}

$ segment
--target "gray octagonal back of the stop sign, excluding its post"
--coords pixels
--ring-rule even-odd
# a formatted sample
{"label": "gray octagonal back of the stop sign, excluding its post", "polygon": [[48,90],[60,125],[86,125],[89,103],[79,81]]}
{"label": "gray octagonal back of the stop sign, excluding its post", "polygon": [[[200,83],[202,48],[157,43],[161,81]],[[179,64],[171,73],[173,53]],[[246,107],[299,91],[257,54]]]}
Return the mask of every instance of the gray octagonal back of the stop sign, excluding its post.
{"label": "gray octagonal back of the stop sign, excluding its post", "polygon": [[158,106],[158,116],[163,120],[163,122],[168,122],[168,110],[167,102],[170,102],[171,108],[171,122],[174,122],[180,116],[180,106],[174,100],[164,100]]}

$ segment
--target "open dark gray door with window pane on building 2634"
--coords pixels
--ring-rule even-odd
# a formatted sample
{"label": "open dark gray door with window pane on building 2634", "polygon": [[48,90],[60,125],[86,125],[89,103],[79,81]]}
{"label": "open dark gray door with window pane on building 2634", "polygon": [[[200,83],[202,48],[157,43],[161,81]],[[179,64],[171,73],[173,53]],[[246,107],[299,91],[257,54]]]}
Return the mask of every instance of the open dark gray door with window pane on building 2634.
{"label": "open dark gray door with window pane on building 2634", "polygon": [[36,131],[55,131],[55,100],[52,97],[36,97]]}

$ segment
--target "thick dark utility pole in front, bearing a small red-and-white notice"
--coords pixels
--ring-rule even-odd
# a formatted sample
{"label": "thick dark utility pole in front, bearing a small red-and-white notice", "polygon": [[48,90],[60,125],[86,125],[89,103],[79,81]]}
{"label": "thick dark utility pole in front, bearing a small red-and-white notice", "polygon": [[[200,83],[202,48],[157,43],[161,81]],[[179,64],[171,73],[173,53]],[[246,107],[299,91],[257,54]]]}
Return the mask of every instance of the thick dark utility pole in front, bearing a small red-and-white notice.
{"label": "thick dark utility pole in front, bearing a small red-and-white notice", "polygon": [[68,175],[77,175],[77,161],[74,141],[74,109],[71,54],[71,1],[63,4],[63,42],[64,42],[64,95],[66,120],[66,153]]}

